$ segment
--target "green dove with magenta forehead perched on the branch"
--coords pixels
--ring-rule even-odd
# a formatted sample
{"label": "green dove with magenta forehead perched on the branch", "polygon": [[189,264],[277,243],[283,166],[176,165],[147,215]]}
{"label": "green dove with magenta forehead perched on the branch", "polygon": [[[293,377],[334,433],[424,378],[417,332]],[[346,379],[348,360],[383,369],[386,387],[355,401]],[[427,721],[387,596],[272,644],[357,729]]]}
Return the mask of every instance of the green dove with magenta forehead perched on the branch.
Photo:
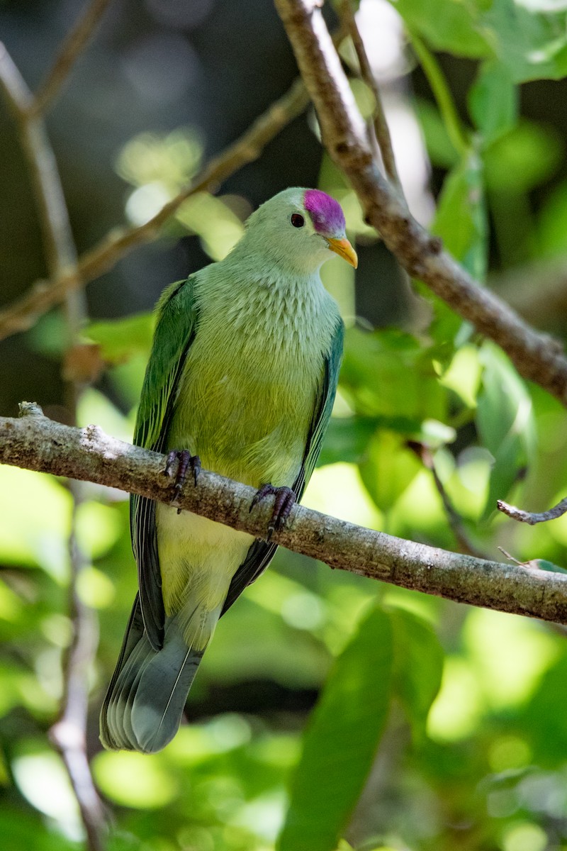
{"label": "green dove with magenta forehead perched on the branch", "polygon": [[[224,260],[166,288],[134,443],[167,454],[171,505],[136,494],[139,591],[100,713],[111,750],[161,751],[219,617],[268,566],[269,540],[315,467],[343,357],[343,321],[320,279],[333,255],[358,264],[340,204],[292,187],[261,204]],[[201,465],[275,494],[265,540],[179,511]]]}

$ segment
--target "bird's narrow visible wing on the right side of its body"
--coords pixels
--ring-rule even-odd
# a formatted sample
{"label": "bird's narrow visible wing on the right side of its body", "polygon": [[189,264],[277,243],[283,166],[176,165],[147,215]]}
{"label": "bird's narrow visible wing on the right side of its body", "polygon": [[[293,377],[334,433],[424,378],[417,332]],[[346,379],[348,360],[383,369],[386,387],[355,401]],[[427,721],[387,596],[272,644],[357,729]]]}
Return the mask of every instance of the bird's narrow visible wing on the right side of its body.
{"label": "bird's narrow visible wing on the right side of its body", "polygon": [[[315,408],[313,419],[309,426],[307,443],[305,444],[305,452],[303,453],[303,461],[298,477],[292,485],[292,490],[296,494],[298,500],[303,496],[303,491],[312,472],[315,469],[315,463],[320,453],[321,443],[325,437],[326,428],[331,419],[332,405],[335,401],[337,392],[338,371],[341,366],[343,357],[343,340],[344,340],[344,325],[341,319],[337,322],[335,334],[333,334],[331,347],[325,358],[325,371],[323,380],[317,388],[315,397]],[[256,540],[247,552],[247,557],[241,563],[241,566],[236,571],[230,582],[229,592],[224,601],[223,611],[235,602],[237,597],[240,597],[242,591],[247,585],[251,585],[258,576],[264,573],[272,558],[275,556],[277,544],[272,544],[263,540]]]}

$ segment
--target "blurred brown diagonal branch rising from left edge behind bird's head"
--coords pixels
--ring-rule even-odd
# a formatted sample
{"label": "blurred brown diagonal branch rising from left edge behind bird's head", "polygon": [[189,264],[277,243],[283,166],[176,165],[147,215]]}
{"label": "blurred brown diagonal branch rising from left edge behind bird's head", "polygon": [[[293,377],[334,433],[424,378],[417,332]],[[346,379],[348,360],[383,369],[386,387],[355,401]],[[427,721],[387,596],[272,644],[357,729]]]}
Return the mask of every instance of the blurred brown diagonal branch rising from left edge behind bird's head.
{"label": "blurred brown diagonal branch rising from left edge behind bird's head", "polygon": [[252,127],[233,145],[214,157],[190,186],[164,207],[152,219],[138,227],[116,228],[91,248],[78,261],[78,275],[64,273],[53,281],[38,281],[30,291],[12,305],[0,311],[0,340],[25,331],[36,323],[50,307],[59,304],[65,293],[82,287],[94,278],[109,271],[128,251],[150,242],[162,225],[175,214],[179,206],[191,195],[201,191],[215,191],[230,174],[257,159],[264,147],[294,118],[301,115],[309,104],[309,94],[298,79],[279,100],[258,117]]}

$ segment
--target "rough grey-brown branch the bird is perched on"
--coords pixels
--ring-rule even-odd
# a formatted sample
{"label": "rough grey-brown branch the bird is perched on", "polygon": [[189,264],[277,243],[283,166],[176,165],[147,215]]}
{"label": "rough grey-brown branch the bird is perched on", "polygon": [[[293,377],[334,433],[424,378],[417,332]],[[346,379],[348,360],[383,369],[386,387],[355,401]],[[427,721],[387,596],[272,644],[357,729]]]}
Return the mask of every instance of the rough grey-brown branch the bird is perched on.
{"label": "rough grey-brown branch the bird is perched on", "polygon": [[[122,443],[97,426],[62,426],[40,408],[22,404],[20,419],[0,418],[0,463],[75,477],[168,504],[172,480],[165,455]],[[202,471],[179,507],[258,538],[271,517],[270,500],[250,513],[254,488]],[[567,624],[567,575],[537,572],[439,550],[346,523],[296,505],[275,543],[332,568],[502,612]]]}

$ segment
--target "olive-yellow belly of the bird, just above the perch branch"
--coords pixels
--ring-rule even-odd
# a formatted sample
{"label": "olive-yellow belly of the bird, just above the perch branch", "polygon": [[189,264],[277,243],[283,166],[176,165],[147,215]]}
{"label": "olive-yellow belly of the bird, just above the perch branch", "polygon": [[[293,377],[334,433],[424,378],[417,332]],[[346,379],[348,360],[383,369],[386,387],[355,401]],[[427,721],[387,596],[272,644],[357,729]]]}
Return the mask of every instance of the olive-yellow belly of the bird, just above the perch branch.
{"label": "olive-yellow belly of the bird, just above the perch branch", "polygon": [[[206,329],[204,329],[206,330]],[[196,334],[179,383],[170,448],[259,487],[291,485],[300,469],[324,359],[281,340],[225,329]]]}

